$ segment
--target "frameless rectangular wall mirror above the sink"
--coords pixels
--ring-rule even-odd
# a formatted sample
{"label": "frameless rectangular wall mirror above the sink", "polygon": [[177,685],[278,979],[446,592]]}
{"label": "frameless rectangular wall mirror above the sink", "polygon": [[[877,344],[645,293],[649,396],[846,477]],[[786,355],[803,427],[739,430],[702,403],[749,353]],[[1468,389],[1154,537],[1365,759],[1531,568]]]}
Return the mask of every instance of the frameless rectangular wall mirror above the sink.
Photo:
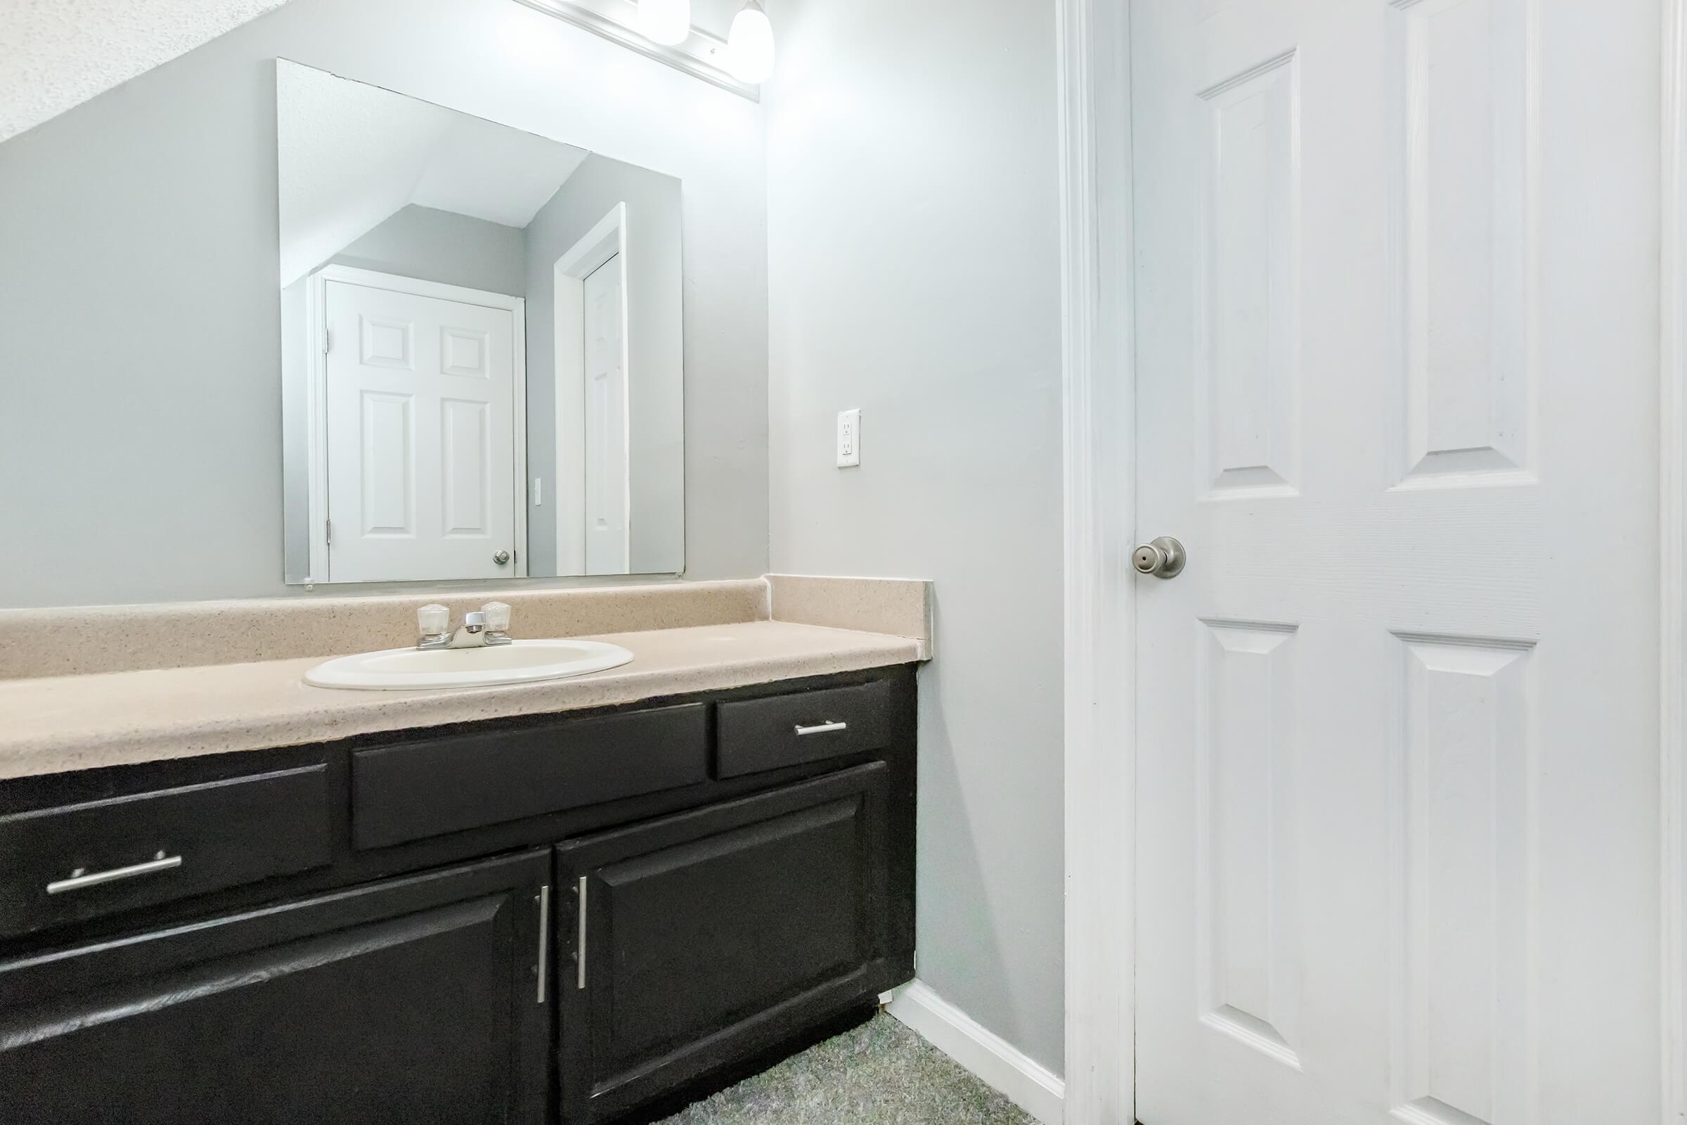
{"label": "frameless rectangular wall mirror above the sink", "polygon": [[275,66],[287,580],[682,572],[680,182]]}

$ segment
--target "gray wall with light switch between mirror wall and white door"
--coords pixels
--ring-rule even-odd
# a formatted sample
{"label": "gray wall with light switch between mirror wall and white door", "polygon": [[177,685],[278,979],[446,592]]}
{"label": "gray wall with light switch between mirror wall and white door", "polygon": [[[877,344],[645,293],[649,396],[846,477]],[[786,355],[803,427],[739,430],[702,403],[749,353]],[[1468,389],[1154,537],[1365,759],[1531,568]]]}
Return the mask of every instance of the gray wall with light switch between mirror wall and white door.
{"label": "gray wall with light switch between mirror wall and white door", "polygon": [[[771,15],[773,565],[936,580],[919,977],[1059,1071],[1054,8]],[[850,406],[862,464],[840,471],[835,413]]]}

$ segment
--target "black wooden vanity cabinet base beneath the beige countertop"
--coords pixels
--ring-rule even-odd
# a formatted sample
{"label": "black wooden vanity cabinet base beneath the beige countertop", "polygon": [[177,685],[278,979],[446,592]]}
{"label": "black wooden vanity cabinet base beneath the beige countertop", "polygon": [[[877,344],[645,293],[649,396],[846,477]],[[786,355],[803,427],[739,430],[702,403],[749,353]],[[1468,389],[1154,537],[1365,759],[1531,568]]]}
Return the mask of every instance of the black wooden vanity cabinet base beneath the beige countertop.
{"label": "black wooden vanity cabinet base beneath the beige countertop", "polygon": [[913,850],[911,665],[10,778],[0,1120],[614,1120],[909,980]]}

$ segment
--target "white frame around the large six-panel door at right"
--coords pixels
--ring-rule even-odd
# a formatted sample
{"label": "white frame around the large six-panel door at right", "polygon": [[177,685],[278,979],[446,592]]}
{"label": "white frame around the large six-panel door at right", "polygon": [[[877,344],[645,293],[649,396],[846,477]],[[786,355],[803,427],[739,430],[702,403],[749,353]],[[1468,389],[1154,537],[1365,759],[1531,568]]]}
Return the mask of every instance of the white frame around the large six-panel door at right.
{"label": "white frame around the large six-panel door at right", "polygon": [[[1662,1123],[1687,1120],[1687,0],[1665,0],[1660,415]],[[1129,0],[1056,0],[1064,422],[1066,1125],[1135,1122]],[[1127,439],[1134,445],[1134,439]],[[1157,533],[1171,533],[1161,530]]]}

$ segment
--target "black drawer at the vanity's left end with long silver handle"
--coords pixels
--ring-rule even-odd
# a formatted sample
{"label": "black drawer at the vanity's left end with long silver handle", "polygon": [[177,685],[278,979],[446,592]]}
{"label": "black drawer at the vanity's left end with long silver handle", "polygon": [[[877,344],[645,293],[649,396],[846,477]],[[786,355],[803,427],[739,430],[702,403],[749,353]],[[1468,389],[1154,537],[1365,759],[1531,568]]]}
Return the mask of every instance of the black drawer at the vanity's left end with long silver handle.
{"label": "black drawer at the vanity's left end with long silver handle", "polygon": [[332,855],[322,764],[0,816],[0,933],[272,875]]}

